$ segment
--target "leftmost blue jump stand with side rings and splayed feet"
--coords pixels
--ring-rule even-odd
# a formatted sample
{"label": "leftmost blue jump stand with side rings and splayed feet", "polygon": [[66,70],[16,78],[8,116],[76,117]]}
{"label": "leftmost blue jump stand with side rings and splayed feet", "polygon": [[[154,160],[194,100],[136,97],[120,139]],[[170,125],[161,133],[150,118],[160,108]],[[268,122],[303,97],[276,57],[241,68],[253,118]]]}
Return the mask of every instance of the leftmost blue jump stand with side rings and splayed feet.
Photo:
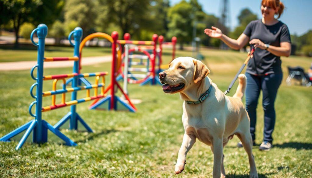
{"label": "leftmost blue jump stand with side rings and splayed feet", "polygon": [[[44,143],[48,140],[48,130],[50,130],[52,133],[54,133],[56,136],[61,138],[63,141],[65,141],[66,145],[68,146],[76,146],[77,144],[73,142],[71,139],[66,137],[63,133],[58,131],[56,128],[54,128],[51,124],[47,123],[45,120],[42,120],[42,85],[43,85],[43,60],[44,60],[44,47],[45,47],[45,37],[47,35],[48,27],[45,24],[40,24],[36,29],[32,31],[31,34],[31,40],[32,43],[35,46],[38,46],[38,55],[37,55],[37,65],[35,65],[31,70],[31,76],[33,79],[37,80],[36,83],[34,83],[31,87],[31,95],[33,98],[36,99],[36,101],[32,102],[29,106],[29,113],[31,116],[35,117],[35,119],[29,121],[28,123],[22,125],[21,127],[18,127],[14,131],[8,133],[7,135],[0,138],[0,141],[8,142],[10,139],[17,134],[23,132],[23,137],[19,141],[16,150],[20,149],[25,141],[27,140],[27,137],[30,135],[30,133],[33,131],[33,139],[32,141],[34,143]],[[37,36],[39,38],[39,42],[35,43],[33,41],[33,34],[37,32]],[[79,45],[78,45],[79,48]],[[32,74],[33,70],[37,68],[37,78],[35,78]],[[37,86],[36,89],[36,96],[32,94],[32,89],[34,86]],[[31,112],[32,106],[36,104],[36,114],[33,114]]]}

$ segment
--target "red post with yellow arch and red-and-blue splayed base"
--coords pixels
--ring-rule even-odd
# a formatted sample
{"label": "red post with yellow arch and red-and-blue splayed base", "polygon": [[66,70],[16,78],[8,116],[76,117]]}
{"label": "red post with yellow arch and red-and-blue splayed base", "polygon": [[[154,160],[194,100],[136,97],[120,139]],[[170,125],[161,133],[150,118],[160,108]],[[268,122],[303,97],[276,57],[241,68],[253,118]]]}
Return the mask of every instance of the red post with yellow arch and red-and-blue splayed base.
{"label": "red post with yellow arch and red-and-blue splayed base", "polygon": [[[119,72],[119,68],[121,65],[121,47],[118,44],[118,32],[113,31],[112,35],[109,36],[105,33],[93,33],[87,37],[81,42],[80,48],[82,49],[85,45],[85,42],[88,40],[91,40],[95,37],[101,37],[109,40],[112,43],[112,65],[111,65],[111,80],[110,80],[110,85],[105,89],[104,93],[107,93],[110,90],[110,95],[107,95],[103,99],[95,99],[93,103],[89,106],[90,109],[105,109],[106,107],[108,110],[118,110],[122,109],[122,107],[128,109],[131,112],[135,112],[137,108],[134,106],[133,103],[131,103],[129,97],[127,94],[124,93],[123,89],[120,87],[118,84],[116,77]],[[118,50],[116,50],[117,45],[119,45]],[[118,57],[117,54],[118,53]],[[120,56],[120,57],[119,57]],[[124,98],[129,102],[125,103],[122,99],[120,99],[118,96],[115,95],[117,92],[117,89],[123,94]],[[118,103],[120,103],[120,107],[118,106]],[[107,104],[107,106],[106,106]]]}

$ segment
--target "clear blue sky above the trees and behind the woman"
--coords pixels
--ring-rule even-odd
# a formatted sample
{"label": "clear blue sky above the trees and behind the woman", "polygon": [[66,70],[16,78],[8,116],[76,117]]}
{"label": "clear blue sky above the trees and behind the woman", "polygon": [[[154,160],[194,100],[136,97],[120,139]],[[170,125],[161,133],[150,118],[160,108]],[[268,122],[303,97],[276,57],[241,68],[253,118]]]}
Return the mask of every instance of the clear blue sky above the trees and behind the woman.
{"label": "clear blue sky above the trees and behind the woman", "polygon": [[[174,5],[180,1],[170,0],[170,3]],[[204,12],[220,17],[222,0],[198,0],[198,2],[202,5]],[[279,20],[288,26],[291,34],[302,35],[312,30],[312,0],[281,0],[281,2],[284,3],[286,9]],[[231,28],[238,25],[237,16],[243,8],[248,7],[260,18],[260,3],[261,0],[229,0]]]}

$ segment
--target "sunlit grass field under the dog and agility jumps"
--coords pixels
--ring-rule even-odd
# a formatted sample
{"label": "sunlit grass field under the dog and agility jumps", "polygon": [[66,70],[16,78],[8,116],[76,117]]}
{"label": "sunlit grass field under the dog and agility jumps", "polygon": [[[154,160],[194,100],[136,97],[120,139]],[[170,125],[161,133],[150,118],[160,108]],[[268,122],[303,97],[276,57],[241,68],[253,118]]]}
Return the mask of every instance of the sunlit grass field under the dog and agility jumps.
{"label": "sunlit grass field under the dog and agility jumps", "polygon": [[[212,70],[209,77],[222,91],[246,59],[245,53],[235,51],[205,50],[202,53]],[[168,60],[170,54],[164,54]],[[190,55],[189,51],[177,52],[177,56]],[[307,69],[311,59],[291,56],[282,60],[284,78],[275,102],[274,147],[269,152],[253,147],[256,166],[259,177],[311,177],[311,87],[285,84],[287,65]],[[99,71],[110,72],[110,64],[83,67],[83,72]],[[71,68],[44,71],[45,75],[70,72]],[[108,82],[109,77],[106,79]],[[0,136],[3,136],[32,119],[28,106],[33,101],[29,87],[34,81],[29,70],[25,70],[0,72],[0,82]],[[44,91],[51,90],[51,83],[45,82]],[[137,105],[137,113],[88,110],[89,103],[77,106],[80,116],[95,131],[61,129],[78,143],[77,147],[62,145],[52,134],[49,134],[49,142],[41,145],[27,142],[19,151],[14,149],[15,141],[0,142],[0,177],[212,177],[212,152],[199,141],[188,153],[183,173],[173,174],[183,137],[183,101],[179,95],[165,94],[161,86],[139,85],[129,85],[129,93],[131,98],[142,100]],[[84,96],[85,92],[81,91],[79,97]],[[58,96],[57,101],[60,100]],[[51,98],[45,97],[43,105],[50,103]],[[43,119],[53,125],[68,111],[69,107],[43,113]],[[256,143],[260,144],[263,135],[261,100],[257,117]],[[237,142],[238,138],[234,137],[224,149],[227,177],[249,177],[247,154],[236,147]]]}

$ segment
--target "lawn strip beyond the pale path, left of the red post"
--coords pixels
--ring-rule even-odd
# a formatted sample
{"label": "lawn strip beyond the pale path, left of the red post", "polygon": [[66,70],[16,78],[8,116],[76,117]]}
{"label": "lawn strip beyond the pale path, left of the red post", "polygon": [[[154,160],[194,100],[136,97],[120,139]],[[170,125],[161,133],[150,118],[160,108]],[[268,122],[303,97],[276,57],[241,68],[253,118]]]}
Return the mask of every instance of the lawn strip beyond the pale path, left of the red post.
{"label": "lawn strip beyond the pale path, left of the red post", "polygon": [[[111,48],[107,47],[85,47],[83,57],[110,55]],[[73,56],[74,47],[72,46],[46,46],[45,57],[66,57]],[[15,62],[37,60],[37,47],[27,46],[19,49],[9,47],[0,48],[0,62]]]}

